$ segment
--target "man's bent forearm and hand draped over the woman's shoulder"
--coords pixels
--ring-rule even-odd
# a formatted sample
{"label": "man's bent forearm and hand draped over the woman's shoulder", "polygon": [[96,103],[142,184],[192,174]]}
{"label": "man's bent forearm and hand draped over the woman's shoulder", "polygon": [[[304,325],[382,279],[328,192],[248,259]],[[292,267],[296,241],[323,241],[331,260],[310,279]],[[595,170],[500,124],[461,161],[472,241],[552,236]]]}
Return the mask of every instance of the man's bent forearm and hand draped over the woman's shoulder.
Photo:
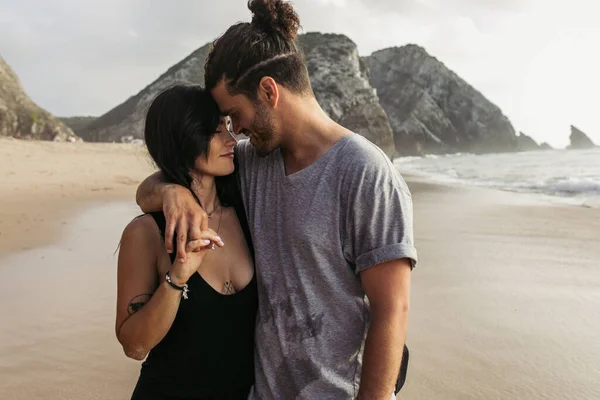
{"label": "man's bent forearm and hand draped over the woman's shoulder", "polygon": [[173,237],[177,232],[177,258],[185,262],[185,246],[198,240],[208,230],[208,217],[192,193],[185,187],[167,183],[160,172],[150,175],[138,186],[135,200],[143,212],[163,211],[165,214],[165,248],[173,252]]}

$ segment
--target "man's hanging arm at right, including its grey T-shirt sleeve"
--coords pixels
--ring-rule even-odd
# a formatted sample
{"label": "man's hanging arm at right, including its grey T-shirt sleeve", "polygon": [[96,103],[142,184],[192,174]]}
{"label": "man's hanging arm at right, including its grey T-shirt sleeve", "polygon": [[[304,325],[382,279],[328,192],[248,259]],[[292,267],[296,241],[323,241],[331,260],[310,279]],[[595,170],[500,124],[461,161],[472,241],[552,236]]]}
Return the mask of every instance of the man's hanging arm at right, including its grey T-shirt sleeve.
{"label": "man's hanging arm at right, including its grey T-shirt sleeve", "polygon": [[417,264],[406,182],[374,146],[348,157],[344,255],[370,303],[359,399],[389,400],[406,339],[411,270]]}

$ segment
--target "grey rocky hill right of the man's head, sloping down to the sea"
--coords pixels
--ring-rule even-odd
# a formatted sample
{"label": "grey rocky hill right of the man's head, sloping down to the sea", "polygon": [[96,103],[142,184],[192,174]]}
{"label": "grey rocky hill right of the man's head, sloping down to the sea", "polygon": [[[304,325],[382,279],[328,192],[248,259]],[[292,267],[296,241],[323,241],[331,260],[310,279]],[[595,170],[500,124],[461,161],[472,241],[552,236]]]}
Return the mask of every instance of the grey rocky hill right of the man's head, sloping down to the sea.
{"label": "grey rocky hill right of the man's head, sloping down to the sea", "polygon": [[518,149],[502,111],[416,45],[364,58],[400,155]]}

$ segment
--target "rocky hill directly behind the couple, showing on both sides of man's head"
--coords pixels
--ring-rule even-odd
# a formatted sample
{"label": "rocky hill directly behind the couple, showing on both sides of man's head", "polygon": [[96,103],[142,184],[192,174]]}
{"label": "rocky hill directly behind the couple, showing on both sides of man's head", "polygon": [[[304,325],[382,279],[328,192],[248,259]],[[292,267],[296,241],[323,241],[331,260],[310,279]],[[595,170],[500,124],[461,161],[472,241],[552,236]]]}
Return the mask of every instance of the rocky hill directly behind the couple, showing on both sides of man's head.
{"label": "rocky hill directly behind the couple, showing on both sides of man's head", "polygon": [[[313,90],[325,112],[391,156],[392,130],[356,45],[345,36],[320,33],[301,35],[298,43],[305,52]],[[128,136],[142,138],[146,110],[157,94],[174,84],[204,83],[209,49],[206,45],[196,50],[138,94],[82,128],[79,134],[87,141],[102,142],[121,141]]]}

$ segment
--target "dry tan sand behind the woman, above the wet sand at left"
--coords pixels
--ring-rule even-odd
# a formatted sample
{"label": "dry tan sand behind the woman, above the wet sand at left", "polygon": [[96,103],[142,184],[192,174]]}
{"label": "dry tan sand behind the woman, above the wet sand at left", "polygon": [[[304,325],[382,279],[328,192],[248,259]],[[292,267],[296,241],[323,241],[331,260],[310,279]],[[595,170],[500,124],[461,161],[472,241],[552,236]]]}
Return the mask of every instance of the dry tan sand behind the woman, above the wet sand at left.
{"label": "dry tan sand behind the woman, above the wet sand at left", "polygon": [[0,138],[0,256],[60,241],[71,216],[95,204],[135,203],[153,172],[141,146]]}

